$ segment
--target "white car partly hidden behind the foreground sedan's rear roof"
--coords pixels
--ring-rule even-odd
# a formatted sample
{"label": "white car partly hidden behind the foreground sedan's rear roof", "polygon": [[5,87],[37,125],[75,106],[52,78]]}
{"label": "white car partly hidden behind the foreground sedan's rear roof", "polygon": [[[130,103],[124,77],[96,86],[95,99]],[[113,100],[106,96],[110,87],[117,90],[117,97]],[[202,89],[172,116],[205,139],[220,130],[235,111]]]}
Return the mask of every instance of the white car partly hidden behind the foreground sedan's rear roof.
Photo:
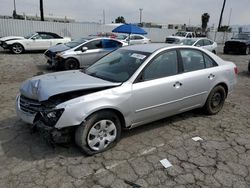
{"label": "white car partly hidden behind the foreground sedan's rear roof", "polygon": [[188,46],[197,46],[209,50],[216,54],[217,43],[208,38],[187,38],[183,39],[180,44]]}

